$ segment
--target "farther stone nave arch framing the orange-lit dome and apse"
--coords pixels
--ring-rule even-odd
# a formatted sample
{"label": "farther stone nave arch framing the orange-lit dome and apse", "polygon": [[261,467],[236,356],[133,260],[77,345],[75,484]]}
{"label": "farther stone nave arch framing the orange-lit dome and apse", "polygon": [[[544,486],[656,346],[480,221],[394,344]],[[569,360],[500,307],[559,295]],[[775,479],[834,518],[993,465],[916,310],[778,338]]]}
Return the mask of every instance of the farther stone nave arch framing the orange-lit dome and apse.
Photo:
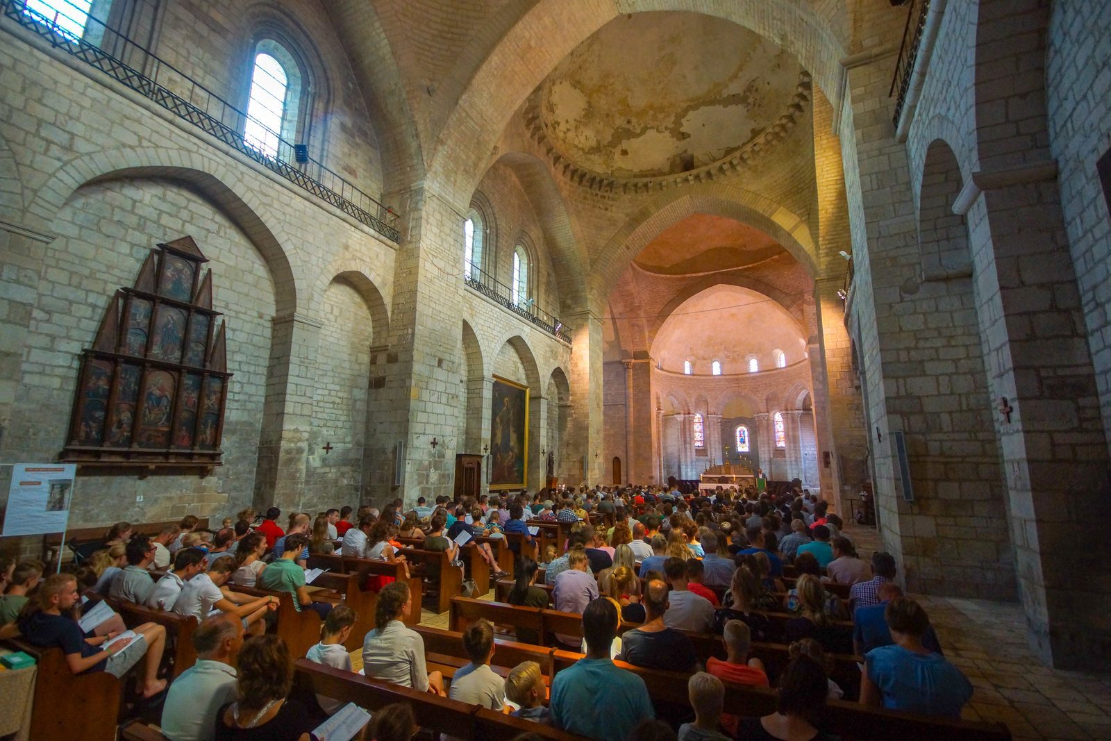
{"label": "farther stone nave arch framing the orange-lit dome and apse", "polygon": [[694,213],[755,227],[778,241],[810,277],[817,274],[814,243],[805,220],[752,191],[711,183],[664,191],[637,209],[595,256],[591,269],[593,292],[603,296],[649,242]]}

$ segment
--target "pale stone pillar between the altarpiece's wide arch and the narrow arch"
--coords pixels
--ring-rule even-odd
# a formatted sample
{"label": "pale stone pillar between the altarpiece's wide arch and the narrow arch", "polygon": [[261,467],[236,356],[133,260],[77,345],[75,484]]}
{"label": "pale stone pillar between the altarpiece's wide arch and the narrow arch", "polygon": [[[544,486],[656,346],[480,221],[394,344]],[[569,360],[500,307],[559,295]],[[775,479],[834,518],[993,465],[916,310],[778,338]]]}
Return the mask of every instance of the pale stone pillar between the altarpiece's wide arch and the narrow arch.
{"label": "pale stone pillar between the altarpiece's wide arch and the narrow arch", "polygon": [[[300,509],[312,431],[317,338],[322,324],[302,314],[276,317],[259,433],[254,507]],[[360,497],[364,500],[366,494]]]}

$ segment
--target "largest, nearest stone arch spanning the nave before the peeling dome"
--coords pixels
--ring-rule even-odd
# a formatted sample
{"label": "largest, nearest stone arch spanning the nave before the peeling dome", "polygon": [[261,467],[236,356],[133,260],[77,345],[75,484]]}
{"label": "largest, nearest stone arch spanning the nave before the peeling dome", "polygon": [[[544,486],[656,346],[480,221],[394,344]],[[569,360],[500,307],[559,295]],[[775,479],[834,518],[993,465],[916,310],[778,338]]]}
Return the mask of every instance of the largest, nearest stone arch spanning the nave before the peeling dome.
{"label": "largest, nearest stone arch spanning the nave before the peeling dome", "polygon": [[[429,179],[442,183],[449,199],[454,193],[454,200],[464,200],[486,171],[488,152],[507,121],[561,59],[619,14],[659,10],[703,12],[738,23],[794,53],[823,90],[843,89],[840,60],[845,51],[818,11],[802,3],[769,8],[767,0],[623,0],[569,8],[563,0],[540,0],[497,43],[460,94],[430,158]],[[831,102],[839,109],[840,97]]]}

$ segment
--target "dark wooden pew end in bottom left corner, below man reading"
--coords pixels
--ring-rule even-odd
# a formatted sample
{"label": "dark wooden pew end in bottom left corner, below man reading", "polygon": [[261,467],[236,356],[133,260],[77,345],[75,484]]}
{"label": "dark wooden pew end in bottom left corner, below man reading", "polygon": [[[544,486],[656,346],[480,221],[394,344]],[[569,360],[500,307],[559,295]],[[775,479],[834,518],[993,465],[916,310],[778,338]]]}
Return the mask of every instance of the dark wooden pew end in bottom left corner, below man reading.
{"label": "dark wooden pew end in bottom left corner, below man reading", "polygon": [[41,649],[19,639],[6,643],[34,657],[39,665],[29,738],[116,738],[126,682],[103,671],[73,674],[61,649]]}

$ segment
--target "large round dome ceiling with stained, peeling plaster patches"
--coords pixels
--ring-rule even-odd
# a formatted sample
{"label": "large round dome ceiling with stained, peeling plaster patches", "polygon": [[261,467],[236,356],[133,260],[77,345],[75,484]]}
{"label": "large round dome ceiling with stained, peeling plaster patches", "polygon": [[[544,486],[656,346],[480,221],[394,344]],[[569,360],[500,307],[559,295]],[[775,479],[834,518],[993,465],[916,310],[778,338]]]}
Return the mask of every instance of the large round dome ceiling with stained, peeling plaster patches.
{"label": "large round dome ceiling with stained, peeling plaster patches", "polygon": [[729,158],[793,120],[807,86],[791,54],[740,26],[637,13],[557,66],[538,91],[540,129],[583,170],[669,176]]}

